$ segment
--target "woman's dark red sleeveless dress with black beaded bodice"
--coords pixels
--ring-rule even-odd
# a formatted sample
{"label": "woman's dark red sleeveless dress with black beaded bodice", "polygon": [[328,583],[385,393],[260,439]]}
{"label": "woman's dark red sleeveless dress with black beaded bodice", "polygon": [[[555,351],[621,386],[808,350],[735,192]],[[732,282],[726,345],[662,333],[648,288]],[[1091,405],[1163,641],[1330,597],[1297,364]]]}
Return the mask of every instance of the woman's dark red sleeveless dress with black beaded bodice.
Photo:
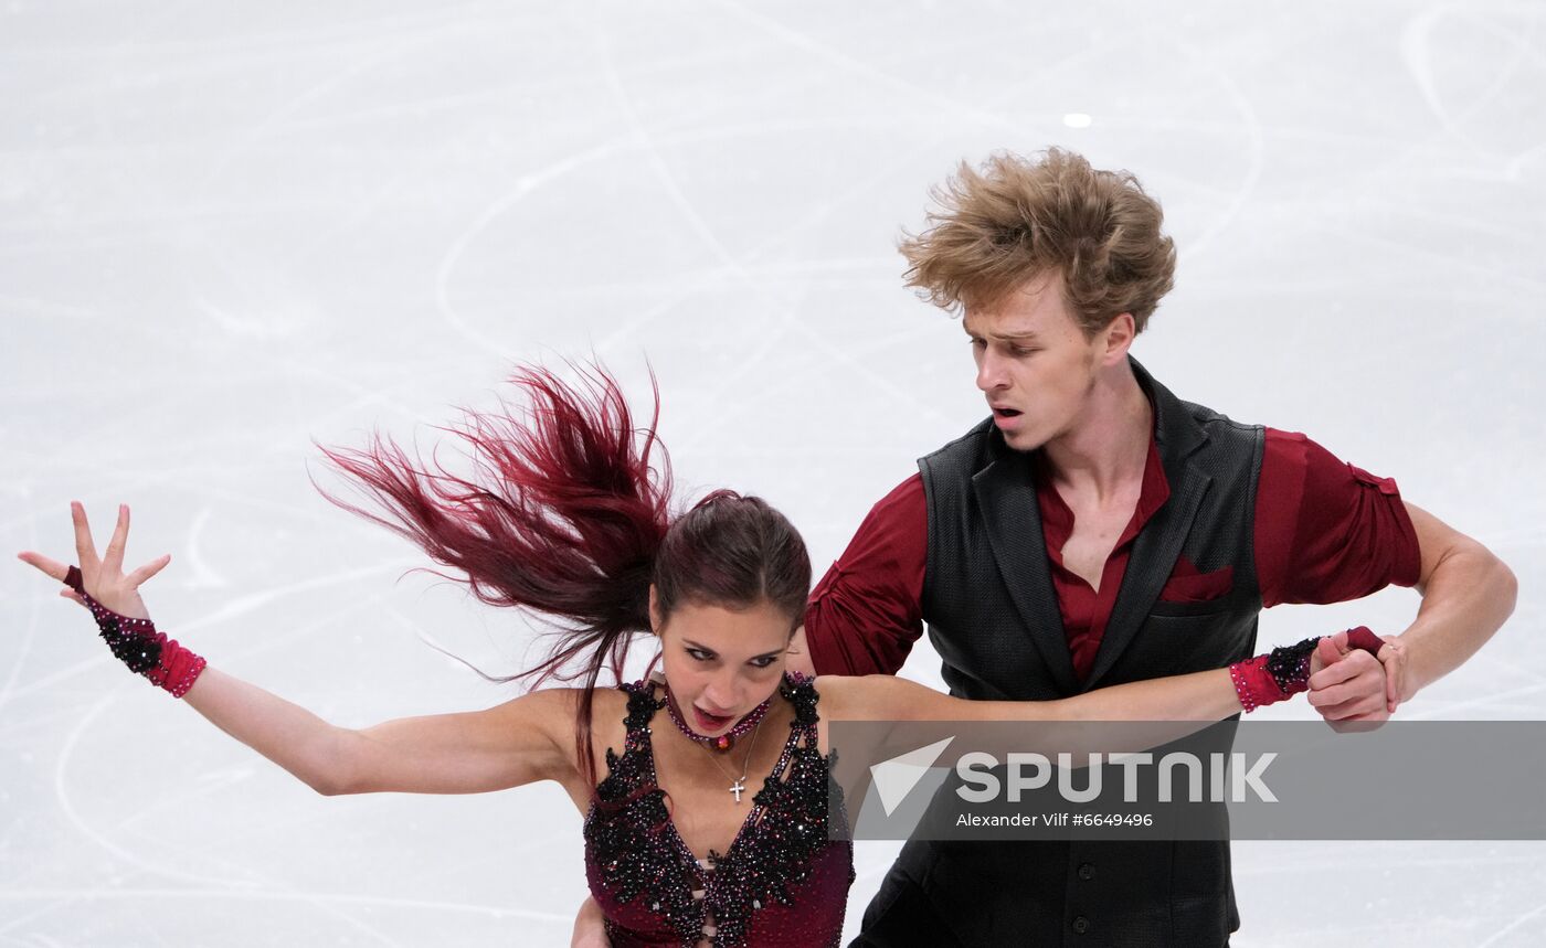
{"label": "woman's dark red sleeveless dress with black beaded bodice", "polygon": [[[784,752],[728,851],[711,851],[702,863],[677,834],[656,778],[649,721],[665,699],[651,682],[623,690],[623,755],[608,749],[608,775],[584,820],[586,877],[612,945],[838,945],[853,843],[829,838],[832,760],[816,743],[819,695],[812,679],[785,675],[779,692],[795,706],[795,719]],[[836,798],[832,818],[846,831]]]}

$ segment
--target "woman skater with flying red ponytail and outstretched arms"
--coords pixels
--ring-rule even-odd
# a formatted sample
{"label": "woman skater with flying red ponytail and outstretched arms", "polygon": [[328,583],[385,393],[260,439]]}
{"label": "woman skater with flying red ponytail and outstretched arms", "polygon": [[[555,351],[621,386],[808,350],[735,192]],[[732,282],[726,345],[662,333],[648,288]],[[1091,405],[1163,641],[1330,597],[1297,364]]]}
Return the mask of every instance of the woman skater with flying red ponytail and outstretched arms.
{"label": "woman skater with flying red ponytail and outstretched arms", "polygon": [[[325,454],[385,516],[329,500],[411,537],[481,601],[558,621],[561,638],[527,675],[578,687],[335,727],[156,631],[139,587],[170,556],[124,573],[127,506],[99,557],[71,505],[79,568],[20,557],[66,584],[60,594],[91,610],[133,672],[322,794],[558,781],[586,815],[586,872],[614,945],[838,943],[853,863],[852,843],[829,838],[829,818],[843,818],[827,812],[830,719],[1214,721],[1305,690],[1319,669],[1309,639],[1228,670],[1044,703],[960,701],[884,675],[785,675],[810,590],[788,520],[728,491],[673,516],[654,420],[635,429],[604,371],[580,386],[541,369],[515,381],[533,401],[524,420],[470,412],[456,432],[492,483],[430,472],[377,437]],[[642,633],[659,639],[662,675],[598,689]],[[1351,645],[1381,650],[1367,630]]]}

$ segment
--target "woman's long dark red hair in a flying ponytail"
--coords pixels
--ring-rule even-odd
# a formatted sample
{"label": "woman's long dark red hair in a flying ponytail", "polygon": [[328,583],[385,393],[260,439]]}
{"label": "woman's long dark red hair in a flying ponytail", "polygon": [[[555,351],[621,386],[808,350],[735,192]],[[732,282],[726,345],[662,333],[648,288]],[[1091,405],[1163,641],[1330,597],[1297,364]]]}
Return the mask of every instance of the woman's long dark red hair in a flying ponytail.
{"label": "woman's long dark red hair in a flying ponytail", "polygon": [[541,662],[495,681],[580,682],[575,740],[594,784],[594,692],[603,669],[621,678],[629,647],[651,628],[651,584],[662,618],[683,601],[770,602],[790,616],[793,631],[810,590],[810,557],[793,525],[759,497],[714,491],[674,516],[671,460],[656,435],[654,377],[649,423],[637,426],[604,367],[572,369],[577,383],[521,366],[510,383],[524,408],[462,409],[461,428],[441,428],[470,448],[472,479],[439,462],[431,471],[377,432],[363,449],[318,449],[382,513],[317,489],[451,570],[427,571],[467,584],[489,605],[530,610],[553,625],[555,642]]}

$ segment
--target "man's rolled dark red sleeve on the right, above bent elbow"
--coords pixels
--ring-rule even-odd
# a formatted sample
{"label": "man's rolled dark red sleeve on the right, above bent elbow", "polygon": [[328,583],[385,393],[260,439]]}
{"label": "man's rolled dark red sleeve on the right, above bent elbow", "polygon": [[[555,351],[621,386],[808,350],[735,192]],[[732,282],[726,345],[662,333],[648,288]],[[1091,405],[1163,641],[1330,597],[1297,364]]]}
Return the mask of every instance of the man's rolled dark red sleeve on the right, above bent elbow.
{"label": "man's rolled dark red sleeve on the right, above bent elbow", "polygon": [[1263,605],[1345,602],[1413,585],[1422,564],[1394,480],[1272,428],[1257,482],[1255,557]]}

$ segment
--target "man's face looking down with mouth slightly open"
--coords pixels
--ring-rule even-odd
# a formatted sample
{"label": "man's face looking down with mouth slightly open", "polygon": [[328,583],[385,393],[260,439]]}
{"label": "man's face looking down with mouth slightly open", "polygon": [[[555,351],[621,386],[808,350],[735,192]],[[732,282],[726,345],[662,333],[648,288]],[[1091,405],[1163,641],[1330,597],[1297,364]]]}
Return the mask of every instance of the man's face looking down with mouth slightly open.
{"label": "man's face looking down with mouth slightly open", "polygon": [[977,388],[1010,448],[1034,451],[1079,425],[1105,333],[1084,337],[1061,275],[1031,279],[991,307],[966,307],[962,323],[977,360]]}

